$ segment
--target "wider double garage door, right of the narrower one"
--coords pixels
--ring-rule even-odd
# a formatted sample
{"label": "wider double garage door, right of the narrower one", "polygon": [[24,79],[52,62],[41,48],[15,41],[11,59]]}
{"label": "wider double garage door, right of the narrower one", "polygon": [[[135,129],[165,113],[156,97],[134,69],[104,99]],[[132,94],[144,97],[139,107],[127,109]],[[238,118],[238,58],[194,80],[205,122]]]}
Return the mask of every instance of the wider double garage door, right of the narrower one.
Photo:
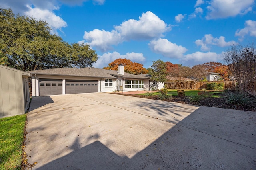
{"label": "wider double garage door, right of the narrower one", "polygon": [[66,80],[66,94],[98,92],[97,80]]}

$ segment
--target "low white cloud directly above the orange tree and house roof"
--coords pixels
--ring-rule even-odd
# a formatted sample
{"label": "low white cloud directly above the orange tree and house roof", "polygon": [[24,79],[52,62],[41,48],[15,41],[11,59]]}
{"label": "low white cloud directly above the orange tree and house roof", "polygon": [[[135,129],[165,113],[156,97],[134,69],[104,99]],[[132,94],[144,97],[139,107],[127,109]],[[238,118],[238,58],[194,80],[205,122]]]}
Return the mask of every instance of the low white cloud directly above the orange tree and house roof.
{"label": "low white cloud directly above the orange tree and house roof", "polygon": [[125,55],[120,55],[120,53],[114,51],[113,53],[104,53],[103,55],[98,55],[98,60],[93,64],[95,68],[103,68],[108,66],[115,59],[130,59],[133,62],[141,63],[145,61],[145,57],[142,53],[126,53]]}

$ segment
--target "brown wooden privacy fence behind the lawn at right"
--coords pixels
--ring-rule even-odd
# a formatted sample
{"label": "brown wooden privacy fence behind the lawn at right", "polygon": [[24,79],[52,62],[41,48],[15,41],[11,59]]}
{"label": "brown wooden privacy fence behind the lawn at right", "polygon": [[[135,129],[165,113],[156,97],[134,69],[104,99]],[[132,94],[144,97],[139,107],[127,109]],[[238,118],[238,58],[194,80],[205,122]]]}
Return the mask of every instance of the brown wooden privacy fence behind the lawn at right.
{"label": "brown wooden privacy fence behind the lawn at right", "polygon": [[[194,81],[173,81],[173,82],[165,82],[165,87],[168,89],[191,89],[191,90],[202,90],[206,89],[206,83],[213,82],[194,82]],[[235,81],[220,81],[215,83],[224,83],[224,89],[227,90],[236,90],[236,82]],[[256,96],[256,81],[251,82],[248,86],[248,92],[252,96]]]}

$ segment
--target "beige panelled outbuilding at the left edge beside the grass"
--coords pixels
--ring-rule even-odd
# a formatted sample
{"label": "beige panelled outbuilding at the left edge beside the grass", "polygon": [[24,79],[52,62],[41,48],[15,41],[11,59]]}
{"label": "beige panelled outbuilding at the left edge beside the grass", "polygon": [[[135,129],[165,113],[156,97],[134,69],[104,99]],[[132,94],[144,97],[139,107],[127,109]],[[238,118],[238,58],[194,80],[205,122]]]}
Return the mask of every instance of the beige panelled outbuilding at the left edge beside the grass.
{"label": "beige panelled outbuilding at the left edge beside the grass", "polygon": [[31,74],[0,65],[0,117],[24,114],[30,102]]}

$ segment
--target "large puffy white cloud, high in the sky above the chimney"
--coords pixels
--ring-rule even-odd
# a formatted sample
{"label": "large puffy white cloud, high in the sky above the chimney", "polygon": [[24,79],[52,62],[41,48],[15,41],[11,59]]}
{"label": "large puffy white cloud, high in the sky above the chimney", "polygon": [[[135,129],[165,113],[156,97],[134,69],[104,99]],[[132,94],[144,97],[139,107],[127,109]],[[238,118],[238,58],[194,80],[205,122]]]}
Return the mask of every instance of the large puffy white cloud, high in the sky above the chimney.
{"label": "large puffy white cloud, high in the sky above the chimney", "polygon": [[124,21],[120,26],[115,26],[111,32],[98,29],[85,31],[84,39],[100,51],[107,51],[111,49],[112,45],[117,45],[123,41],[150,40],[162,37],[163,33],[170,30],[170,25],[148,11],[143,13],[139,20]]}

